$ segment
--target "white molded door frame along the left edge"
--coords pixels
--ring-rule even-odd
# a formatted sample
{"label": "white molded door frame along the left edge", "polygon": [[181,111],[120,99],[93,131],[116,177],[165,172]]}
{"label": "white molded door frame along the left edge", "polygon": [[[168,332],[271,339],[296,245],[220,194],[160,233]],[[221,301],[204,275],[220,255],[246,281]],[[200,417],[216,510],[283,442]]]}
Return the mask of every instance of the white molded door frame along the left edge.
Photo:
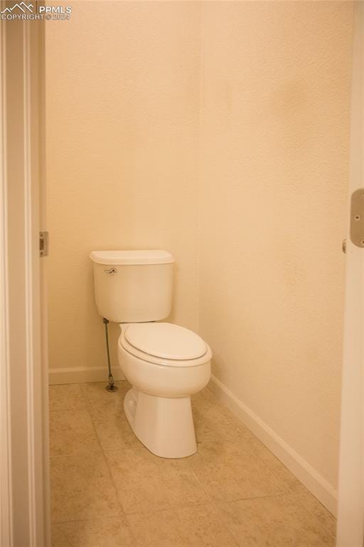
{"label": "white molded door frame along the left edge", "polygon": [[41,21],[0,23],[0,543],[9,547],[50,546],[43,35]]}

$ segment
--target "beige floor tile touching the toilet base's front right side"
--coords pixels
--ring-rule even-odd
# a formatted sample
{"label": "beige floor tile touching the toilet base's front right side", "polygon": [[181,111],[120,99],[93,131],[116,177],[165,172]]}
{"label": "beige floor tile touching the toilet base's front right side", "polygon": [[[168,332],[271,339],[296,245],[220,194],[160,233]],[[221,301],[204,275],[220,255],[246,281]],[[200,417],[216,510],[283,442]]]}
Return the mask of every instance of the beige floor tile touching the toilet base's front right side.
{"label": "beige floor tile touching the toilet base's front right side", "polygon": [[213,499],[234,499],[287,494],[287,487],[252,451],[249,439],[237,444],[202,442],[188,458],[205,492]]}

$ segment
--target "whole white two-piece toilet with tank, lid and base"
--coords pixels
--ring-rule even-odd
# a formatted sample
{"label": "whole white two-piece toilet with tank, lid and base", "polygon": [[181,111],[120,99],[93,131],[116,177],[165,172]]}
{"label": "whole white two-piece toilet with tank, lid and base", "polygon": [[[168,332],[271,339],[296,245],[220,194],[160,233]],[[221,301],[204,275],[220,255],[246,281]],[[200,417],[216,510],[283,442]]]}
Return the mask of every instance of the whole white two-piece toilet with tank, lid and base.
{"label": "whole white two-piece toilet with tank, lid and base", "polygon": [[100,315],[120,324],[119,365],[132,389],[127,420],[157,456],[196,452],[191,395],[210,380],[212,353],[196,333],[154,323],[171,312],[173,256],[166,251],[92,251]]}

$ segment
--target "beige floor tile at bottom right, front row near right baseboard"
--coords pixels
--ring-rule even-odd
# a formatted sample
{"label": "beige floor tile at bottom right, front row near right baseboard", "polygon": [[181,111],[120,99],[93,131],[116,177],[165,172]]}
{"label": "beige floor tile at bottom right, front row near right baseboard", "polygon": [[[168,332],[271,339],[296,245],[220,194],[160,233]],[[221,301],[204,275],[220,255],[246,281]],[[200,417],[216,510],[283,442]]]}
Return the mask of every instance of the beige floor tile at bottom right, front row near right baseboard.
{"label": "beige floor tile at bottom right, front row near right baseboard", "polygon": [[333,547],[334,540],[294,496],[221,504],[223,522],[240,547]]}

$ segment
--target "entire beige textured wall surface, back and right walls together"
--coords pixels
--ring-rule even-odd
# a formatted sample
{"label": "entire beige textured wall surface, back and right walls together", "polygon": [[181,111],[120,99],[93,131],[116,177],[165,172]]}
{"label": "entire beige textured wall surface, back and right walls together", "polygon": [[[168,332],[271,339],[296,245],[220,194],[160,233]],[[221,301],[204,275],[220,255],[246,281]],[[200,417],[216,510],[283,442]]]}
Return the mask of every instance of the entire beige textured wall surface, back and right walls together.
{"label": "entire beige textured wall surface, back and right walls together", "polygon": [[352,5],[105,4],[47,24],[50,367],[105,364],[90,250],[172,251],[171,320],[335,486]]}

